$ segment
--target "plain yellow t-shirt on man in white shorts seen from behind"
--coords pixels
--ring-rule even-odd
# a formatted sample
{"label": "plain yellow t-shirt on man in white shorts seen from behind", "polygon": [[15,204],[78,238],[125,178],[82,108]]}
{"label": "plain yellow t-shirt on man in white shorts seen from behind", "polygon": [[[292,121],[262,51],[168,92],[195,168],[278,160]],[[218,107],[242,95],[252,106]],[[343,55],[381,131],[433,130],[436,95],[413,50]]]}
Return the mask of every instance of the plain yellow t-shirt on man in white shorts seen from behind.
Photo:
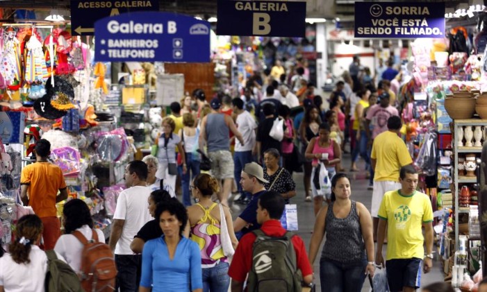
{"label": "plain yellow t-shirt on man in white shorts seen from behind", "polygon": [[402,166],[413,163],[404,141],[395,132],[382,132],[372,144],[370,157],[377,160],[374,181],[399,181],[399,170]]}

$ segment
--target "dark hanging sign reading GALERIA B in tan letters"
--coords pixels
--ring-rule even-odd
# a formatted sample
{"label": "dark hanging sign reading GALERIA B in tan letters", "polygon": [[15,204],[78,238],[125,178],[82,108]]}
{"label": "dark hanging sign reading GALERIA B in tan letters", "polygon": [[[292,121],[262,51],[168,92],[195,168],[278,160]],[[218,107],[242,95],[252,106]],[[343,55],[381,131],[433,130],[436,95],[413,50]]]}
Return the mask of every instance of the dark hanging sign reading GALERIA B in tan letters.
{"label": "dark hanging sign reading GALERIA B in tan letters", "polygon": [[305,37],[306,2],[218,0],[217,35]]}

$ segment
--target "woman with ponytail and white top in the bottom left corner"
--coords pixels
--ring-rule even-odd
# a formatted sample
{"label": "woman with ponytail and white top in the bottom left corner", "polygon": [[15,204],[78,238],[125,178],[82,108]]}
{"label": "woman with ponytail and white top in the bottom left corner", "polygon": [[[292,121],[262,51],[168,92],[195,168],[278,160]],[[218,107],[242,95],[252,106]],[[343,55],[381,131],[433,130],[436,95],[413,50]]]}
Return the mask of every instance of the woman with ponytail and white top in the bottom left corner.
{"label": "woman with ponytail and white top in the bottom left corner", "polygon": [[43,229],[36,215],[26,215],[17,221],[15,241],[10,243],[9,253],[0,258],[1,292],[44,292],[47,255],[39,248]]}

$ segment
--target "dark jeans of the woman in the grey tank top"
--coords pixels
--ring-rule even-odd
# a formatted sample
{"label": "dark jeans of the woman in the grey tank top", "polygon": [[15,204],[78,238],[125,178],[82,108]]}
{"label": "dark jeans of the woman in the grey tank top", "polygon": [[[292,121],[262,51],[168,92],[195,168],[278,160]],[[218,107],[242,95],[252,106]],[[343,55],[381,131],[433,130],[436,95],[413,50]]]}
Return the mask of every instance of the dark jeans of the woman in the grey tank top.
{"label": "dark jeans of the woman in the grey tank top", "polygon": [[[320,259],[320,283],[327,292],[361,292],[367,260],[353,264]],[[324,290],[323,290],[324,291]]]}

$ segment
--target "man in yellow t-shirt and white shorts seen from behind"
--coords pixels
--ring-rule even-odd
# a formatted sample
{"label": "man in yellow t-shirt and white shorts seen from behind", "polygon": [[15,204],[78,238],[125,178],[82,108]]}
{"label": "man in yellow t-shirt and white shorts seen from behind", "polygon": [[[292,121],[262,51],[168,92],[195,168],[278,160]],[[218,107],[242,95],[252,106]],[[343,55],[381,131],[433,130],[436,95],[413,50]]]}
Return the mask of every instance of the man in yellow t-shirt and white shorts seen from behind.
{"label": "man in yellow t-shirt and white shorts seen from behind", "polygon": [[399,184],[399,169],[413,163],[411,155],[404,141],[398,136],[402,128],[401,118],[391,116],[387,120],[386,132],[377,135],[372,144],[370,162],[374,169],[374,191],[372,191],[372,208],[370,214],[374,218],[374,239],[377,239],[377,212],[383,194],[401,187]]}

